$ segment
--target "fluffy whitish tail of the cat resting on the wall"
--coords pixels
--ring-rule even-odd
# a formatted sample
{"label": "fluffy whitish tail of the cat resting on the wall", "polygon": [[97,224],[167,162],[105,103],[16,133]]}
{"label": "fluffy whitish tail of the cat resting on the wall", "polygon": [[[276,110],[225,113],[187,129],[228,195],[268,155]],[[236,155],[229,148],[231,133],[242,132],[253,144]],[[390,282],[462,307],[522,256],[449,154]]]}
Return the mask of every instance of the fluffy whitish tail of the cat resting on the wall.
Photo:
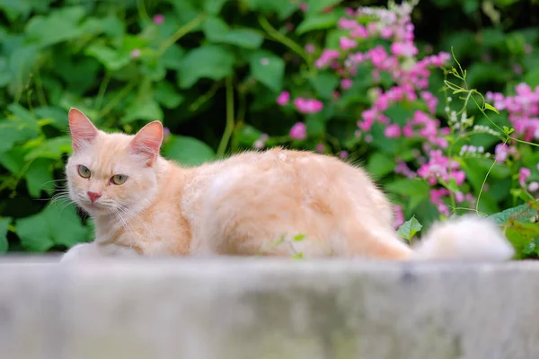
{"label": "fluffy whitish tail of the cat resting on the wall", "polygon": [[505,261],[515,249],[490,219],[464,215],[433,224],[413,246],[412,260]]}

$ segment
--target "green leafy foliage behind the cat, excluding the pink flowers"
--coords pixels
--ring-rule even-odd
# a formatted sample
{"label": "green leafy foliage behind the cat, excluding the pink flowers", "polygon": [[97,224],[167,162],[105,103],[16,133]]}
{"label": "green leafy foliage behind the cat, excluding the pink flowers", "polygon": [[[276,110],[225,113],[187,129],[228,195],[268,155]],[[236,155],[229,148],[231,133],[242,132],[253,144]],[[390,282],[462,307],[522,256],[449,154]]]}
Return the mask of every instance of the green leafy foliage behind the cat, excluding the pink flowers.
{"label": "green leafy foliage behind the cat, excluding the pink flowers", "polygon": [[[411,220],[400,233],[410,241],[420,231],[419,222],[428,226],[437,217],[429,204],[429,184],[394,173],[396,159],[409,161],[416,144],[387,138],[383,127],[373,130],[370,145],[353,136],[361,111],[372,102],[376,85],[372,69],[360,66],[350,91],[341,92],[334,71],[314,66],[323,48],[339,48],[343,32],[336,25],[350,3],[307,0],[306,8],[302,3],[0,0],[4,14],[0,29],[4,109],[0,118],[0,252],[63,250],[92,238],[91,227],[81,222],[73,206],[49,200],[65,186],[64,165],[71,153],[66,118],[71,107],[84,110],[107,131],[133,133],[149,121],[163,120],[172,133],[165,139],[163,154],[186,166],[250,148],[265,134],[270,136],[266,146],[314,149],[324,144],[326,153],[349,151],[406,208]],[[446,86],[456,91],[455,99],[466,96],[468,88],[477,88],[473,99],[480,102],[481,110],[473,113],[470,109],[471,116],[481,118],[481,112],[486,112],[503,138],[514,136],[507,115],[483,103],[479,94],[509,92],[521,80],[539,84],[539,57],[535,48],[531,54],[528,48],[537,42],[539,32],[534,27],[526,29],[528,23],[513,26],[510,20],[522,5],[514,0],[497,0],[490,7],[478,1],[427,3],[420,2],[414,13],[414,22],[422,29],[420,44],[430,43],[444,51],[453,46],[455,56],[469,70],[469,87],[464,88],[460,80]],[[432,6],[437,10],[432,11]],[[154,22],[156,14],[163,15],[163,23]],[[471,31],[485,15],[490,22]],[[461,31],[455,31],[457,22],[462,23]],[[432,42],[433,33],[439,43]],[[377,45],[367,42],[358,41],[357,50]],[[307,44],[315,45],[314,52],[305,49]],[[419,48],[430,51],[426,46]],[[432,75],[436,76],[429,90],[443,103],[442,74]],[[380,86],[390,83],[382,79]],[[312,97],[328,105],[302,118],[292,105],[276,104],[279,92],[290,88],[293,98]],[[392,105],[385,115],[403,125],[420,109],[416,102]],[[472,100],[468,105],[473,107]],[[228,123],[227,111],[231,113]],[[309,137],[304,142],[291,141],[287,132],[302,119]],[[464,141],[485,147],[497,144],[497,138],[493,142],[481,136]],[[459,159],[456,154],[455,159],[462,162],[467,189],[476,196],[481,193],[476,210],[495,213],[529,200],[515,176],[522,163],[535,168],[539,162],[535,153],[523,152],[522,163],[492,167],[490,160]],[[539,180],[539,173],[533,176]],[[451,181],[443,185],[456,189]],[[487,187],[490,190],[484,190]],[[536,224],[530,222],[536,211],[524,206],[493,218],[505,226],[519,258],[530,258],[537,254]],[[295,238],[300,240],[303,237]]]}

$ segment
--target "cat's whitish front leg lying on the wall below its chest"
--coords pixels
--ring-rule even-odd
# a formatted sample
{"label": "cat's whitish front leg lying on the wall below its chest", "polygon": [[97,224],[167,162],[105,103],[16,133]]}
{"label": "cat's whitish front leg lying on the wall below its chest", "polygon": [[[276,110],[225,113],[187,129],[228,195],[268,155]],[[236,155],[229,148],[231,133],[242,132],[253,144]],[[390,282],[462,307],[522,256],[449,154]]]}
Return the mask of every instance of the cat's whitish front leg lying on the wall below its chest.
{"label": "cat's whitish front leg lying on the wall below its chest", "polygon": [[116,244],[103,245],[99,241],[90,243],[75,244],[72,248],[66,251],[60,262],[84,261],[98,258],[114,258],[114,257],[139,257],[137,250],[128,247],[118,246]]}

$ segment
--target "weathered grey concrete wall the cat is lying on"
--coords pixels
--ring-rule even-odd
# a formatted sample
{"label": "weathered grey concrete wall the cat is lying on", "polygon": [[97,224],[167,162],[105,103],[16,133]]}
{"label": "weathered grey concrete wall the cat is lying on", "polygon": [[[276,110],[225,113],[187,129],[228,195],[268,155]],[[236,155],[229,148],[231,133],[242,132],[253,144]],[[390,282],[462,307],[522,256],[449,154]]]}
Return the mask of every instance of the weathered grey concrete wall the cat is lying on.
{"label": "weathered grey concrete wall the cat is lying on", "polygon": [[539,264],[0,260],[0,358],[539,357]]}

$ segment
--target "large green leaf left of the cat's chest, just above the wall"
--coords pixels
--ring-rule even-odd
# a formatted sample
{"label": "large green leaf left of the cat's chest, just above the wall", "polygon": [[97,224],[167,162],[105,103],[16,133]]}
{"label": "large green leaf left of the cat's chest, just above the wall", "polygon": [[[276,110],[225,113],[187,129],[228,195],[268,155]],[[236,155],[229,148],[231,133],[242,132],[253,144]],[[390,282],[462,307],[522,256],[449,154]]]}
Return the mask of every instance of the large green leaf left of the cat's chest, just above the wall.
{"label": "large green leaf left of the cat's chest, just above the wall", "polygon": [[17,220],[15,229],[22,247],[30,251],[44,252],[55,245],[71,247],[87,238],[72,205],[52,203],[38,215]]}

